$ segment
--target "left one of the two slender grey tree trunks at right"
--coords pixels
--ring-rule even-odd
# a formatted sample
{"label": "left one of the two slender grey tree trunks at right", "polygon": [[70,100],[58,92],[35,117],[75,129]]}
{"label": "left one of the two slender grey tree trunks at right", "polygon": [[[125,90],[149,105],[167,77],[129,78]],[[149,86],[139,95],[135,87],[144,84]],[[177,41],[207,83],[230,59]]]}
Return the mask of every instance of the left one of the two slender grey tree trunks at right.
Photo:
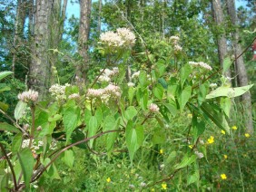
{"label": "left one of the two slender grey tree trunks at right", "polygon": [[[217,26],[223,30],[221,34],[217,34],[219,61],[221,66],[223,67],[223,61],[227,56],[228,52],[227,52],[227,39],[226,39],[224,24],[223,24],[221,0],[212,0],[212,8],[213,8],[214,21],[217,24]],[[224,75],[227,77],[231,77],[230,70],[228,72],[225,72]]]}

